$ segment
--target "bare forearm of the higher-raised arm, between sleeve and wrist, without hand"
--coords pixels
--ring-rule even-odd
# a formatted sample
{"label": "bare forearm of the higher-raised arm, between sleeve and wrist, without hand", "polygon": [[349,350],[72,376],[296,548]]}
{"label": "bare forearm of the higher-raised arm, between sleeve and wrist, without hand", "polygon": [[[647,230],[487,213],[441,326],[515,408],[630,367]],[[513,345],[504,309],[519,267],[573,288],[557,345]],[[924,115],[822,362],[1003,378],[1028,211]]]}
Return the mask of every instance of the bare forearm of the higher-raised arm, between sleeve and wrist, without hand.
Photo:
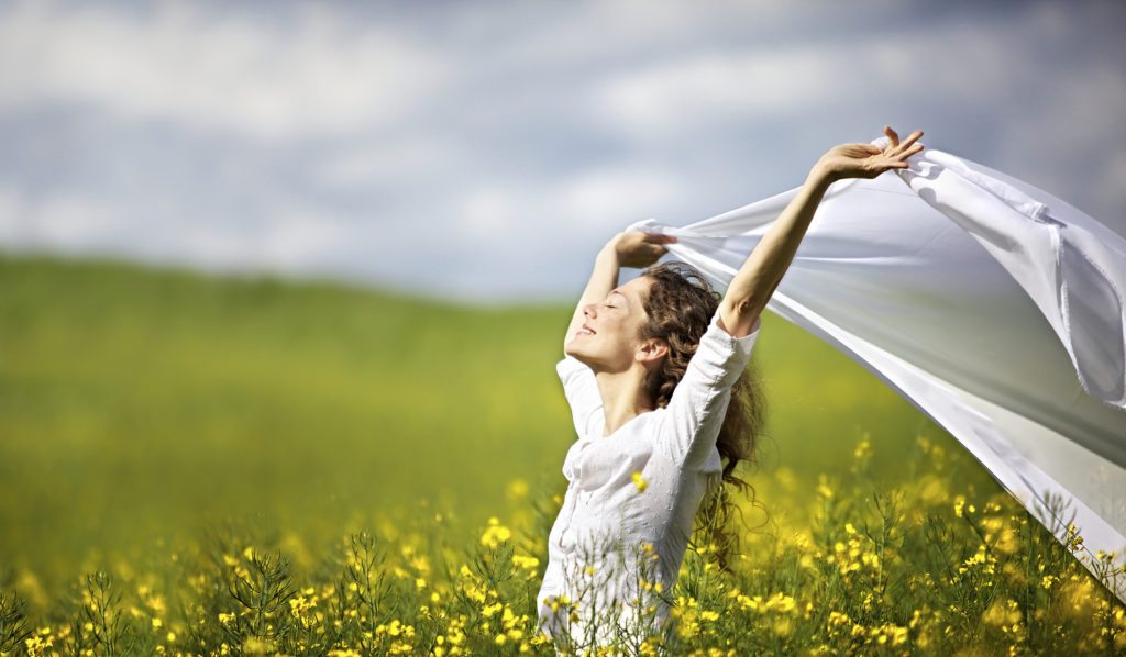
{"label": "bare forearm of the higher-raised arm, between sleeve and wrist, without hand", "polygon": [[778,215],[732,278],[723,300],[729,307],[739,308],[739,314],[749,320],[748,328],[750,320],[766,308],[775,288],[781,282],[832,181],[826,171],[814,166],[797,196]]}

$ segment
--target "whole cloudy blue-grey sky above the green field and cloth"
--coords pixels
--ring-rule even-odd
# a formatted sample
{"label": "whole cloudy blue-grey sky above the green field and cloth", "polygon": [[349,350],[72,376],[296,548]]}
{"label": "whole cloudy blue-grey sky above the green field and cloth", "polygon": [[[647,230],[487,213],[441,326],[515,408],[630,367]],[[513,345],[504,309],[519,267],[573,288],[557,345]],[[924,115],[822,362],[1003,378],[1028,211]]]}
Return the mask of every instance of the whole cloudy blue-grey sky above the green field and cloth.
{"label": "whole cloudy blue-grey sky above the green field and cloth", "polygon": [[[1126,205],[1121,2],[0,4],[0,251],[579,297],[892,125]],[[623,281],[636,272],[624,272]]]}

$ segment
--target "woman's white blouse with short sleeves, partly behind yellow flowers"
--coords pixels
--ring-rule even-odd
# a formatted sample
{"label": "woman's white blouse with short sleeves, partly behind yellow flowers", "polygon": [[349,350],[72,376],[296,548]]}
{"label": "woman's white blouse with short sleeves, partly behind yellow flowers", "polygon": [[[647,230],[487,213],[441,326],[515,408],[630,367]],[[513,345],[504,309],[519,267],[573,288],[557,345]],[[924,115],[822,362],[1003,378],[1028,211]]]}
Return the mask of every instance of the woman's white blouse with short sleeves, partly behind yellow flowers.
{"label": "woman's white blouse with short sleeves, partly behind yellow flowers", "polygon": [[[735,338],[718,325],[718,317],[717,309],[668,406],[631,418],[608,436],[602,436],[595,372],[571,356],[556,364],[579,440],[563,464],[570,485],[548,538],[548,564],[537,596],[546,634],[555,634],[564,622],[562,611],[552,611],[549,596],[579,602],[581,620],[570,623],[577,637],[584,632],[583,609],[590,613],[597,605],[595,613],[601,613],[598,610],[610,601],[629,605],[637,597],[636,577],[646,573],[633,566],[636,557],[626,559],[623,568],[625,552],[605,552],[606,541],[622,541],[626,550],[650,543],[656,558],[650,556],[647,562],[655,568],[647,580],[660,582],[665,592],[676,584],[700,502],[722,483],[716,439],[731,387],[747,369],[761,327],[759,318],[750,334]],[[634,472],[641,472],[642,486]],[[596,543],[599,549],[592,551]],[[593,574],[587,572],[591,565]],[[587,594],[590,590],[597,592],[595,598]],[[667,605],[646,601],[656,604],[656,620],[667,621]],[[623,613],[631,612],[626,608]],[[598,626],[601,644],[611,628]]]}

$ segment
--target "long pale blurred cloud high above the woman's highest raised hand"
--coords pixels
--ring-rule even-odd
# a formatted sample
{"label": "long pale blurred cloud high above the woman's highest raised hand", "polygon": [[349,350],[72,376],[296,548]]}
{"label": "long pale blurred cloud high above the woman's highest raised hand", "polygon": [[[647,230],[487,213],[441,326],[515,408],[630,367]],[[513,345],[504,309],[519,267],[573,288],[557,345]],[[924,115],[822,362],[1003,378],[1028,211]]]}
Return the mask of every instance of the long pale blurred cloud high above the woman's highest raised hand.
{"label": "long pale blurred cloud high above the woman's highest raised hand", "polygon": [[[725,129],[763,118],[799,120],[834,107],[890,107],[928,97],[993,102],[1034,74],[1007,70],[1009,52],[984,28],[958,27],[910,36],[874,32],[846,45],[677,53],[608,75],[591,92],[589,112],[617,133],[655,143],[704,124]],[[974,62],[972,75],[965,61]]]}

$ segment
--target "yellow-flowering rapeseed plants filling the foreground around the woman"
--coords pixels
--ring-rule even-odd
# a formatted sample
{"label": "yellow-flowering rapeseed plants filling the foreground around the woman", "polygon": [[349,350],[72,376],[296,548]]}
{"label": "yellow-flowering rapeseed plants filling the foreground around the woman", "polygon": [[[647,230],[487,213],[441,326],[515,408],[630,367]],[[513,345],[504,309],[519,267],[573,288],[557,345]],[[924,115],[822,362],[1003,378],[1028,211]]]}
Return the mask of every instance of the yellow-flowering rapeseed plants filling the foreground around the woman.
{"label": "yellow-flowering rapeseed plants filling the foreground around the woman", "polygon": [[[202,550],[180,550],[166,570],[117,564],[87,575],[69,603],[38,615],[20,595],[38,595],[35,575],[12,574],[0,579],[0,655],[1126,650],[1124,606],[1080,562],[1094,559],[1112,582],[1124,576],[1120,551],[1088,556],[1074,524],[1061,524],[1061,543],[1008,496],[957,489],[957,460],[926,439],[912,464],[918,486],[882,489],[865,474],[872,452],[865,434],[852,476],[820,477],[798,504],[785,504],[801,489],[792,471],[780,469],[774,489],[763,480],[760,498],[776,492],[777,513],[744,532],[727,569],[705,537],[694,537],[671,587],[653,570],[653,544],[632,554],[590,546],[569,590],[546,601],[574,637],[538,626],[544,533],[561,498],[517,482],[508,490],[531,502],[530,522],[491,516],[468,540],[441,521],[378,524],[378,533],[345,536],[300,575],[282,550],[300,539],[271,541],[238,524]],[[635,484],[643,493],[640,472]],[[636,559],[629,600],[598,600],[627,558]],[[661,604],[664,628],[653,622]]]}

